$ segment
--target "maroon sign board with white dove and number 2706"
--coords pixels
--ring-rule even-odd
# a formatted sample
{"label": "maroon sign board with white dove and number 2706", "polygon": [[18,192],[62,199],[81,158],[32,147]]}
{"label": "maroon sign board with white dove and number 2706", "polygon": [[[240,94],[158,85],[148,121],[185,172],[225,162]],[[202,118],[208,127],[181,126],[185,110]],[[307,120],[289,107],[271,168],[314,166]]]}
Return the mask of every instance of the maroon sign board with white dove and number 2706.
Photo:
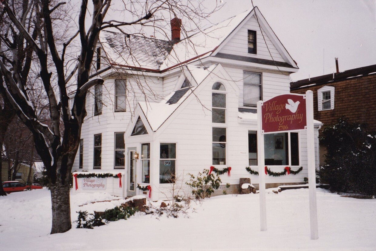
{"label": "maroon sign board with white dove and number 2706", "polygon": [[261,105],[262,133],[306,129],[306,97],[284,94],[264,101]]}

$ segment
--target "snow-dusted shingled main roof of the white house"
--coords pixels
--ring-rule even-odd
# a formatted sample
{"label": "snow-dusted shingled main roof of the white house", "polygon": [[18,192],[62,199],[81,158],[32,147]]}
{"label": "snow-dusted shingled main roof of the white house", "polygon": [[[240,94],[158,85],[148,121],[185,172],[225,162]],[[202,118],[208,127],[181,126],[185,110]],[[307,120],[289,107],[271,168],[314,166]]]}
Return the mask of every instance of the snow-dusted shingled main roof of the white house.
{"label": "snow-dusted shingled main roof of the white house", "polygon": [[[176,44],[161,39],[110,31],[101,32],[99,40],[113,66],[163,72],[216,53],[217,48],[237,29],[242,21],[250,14],[255,13],[254,10],[258,9],[255,7],[255,9],[247,10],[182,39]],[[284,64],[293,67],[288,63]]]}

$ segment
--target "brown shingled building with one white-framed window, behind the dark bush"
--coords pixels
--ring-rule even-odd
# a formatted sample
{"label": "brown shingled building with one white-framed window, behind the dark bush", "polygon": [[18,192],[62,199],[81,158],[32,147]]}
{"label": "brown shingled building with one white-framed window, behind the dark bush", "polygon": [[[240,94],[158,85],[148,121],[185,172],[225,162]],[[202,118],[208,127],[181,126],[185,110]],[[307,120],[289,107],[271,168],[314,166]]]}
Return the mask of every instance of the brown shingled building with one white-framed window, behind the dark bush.
{"label": "brown shingled building with one white-framed window, behind the dark bush", "polygon": [[[376,65],[303,79],[290,83],[291,93],[314,95],[314,119],[334,125],[340,117],[349,122],[366,124],[376,131]],[[322,129],[321,129],[322,130]],[[320,164],[323,164],[320,146]]]}

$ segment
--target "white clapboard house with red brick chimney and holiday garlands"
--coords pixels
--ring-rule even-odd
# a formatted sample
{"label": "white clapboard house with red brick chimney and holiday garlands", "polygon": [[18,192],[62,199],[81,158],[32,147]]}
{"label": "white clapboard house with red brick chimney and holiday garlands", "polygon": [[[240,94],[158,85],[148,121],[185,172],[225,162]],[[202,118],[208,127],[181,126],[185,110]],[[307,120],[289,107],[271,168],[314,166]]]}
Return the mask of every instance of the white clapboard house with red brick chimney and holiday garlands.
{"label": "white clapboard house with red brick chimney and holiday garlands", "polygon": [[[298,70],[258,8],[190,39],[180,40],[179,23],[171,20],[171,41],[101,33],[92,77],[105,82],[87,96],[73,171],[120,173],[122,187],[111,177],[106,191],[133,196],[145,194],[138,185],[150,186],[152,200],[171,196],[172,176],[184,184],[187,173],[211,166],[231,167],[221,180],[233,190],[244,176],[258,184],[246,170],[258,164],[274,172],[303,167],[296,175],[267,176],[267,186],[302,183],[305,132],[265,135],[265,160],[257,159],[256,103],[290,93],[289,75]],[[321,125],[315,121],[317,140]]]}

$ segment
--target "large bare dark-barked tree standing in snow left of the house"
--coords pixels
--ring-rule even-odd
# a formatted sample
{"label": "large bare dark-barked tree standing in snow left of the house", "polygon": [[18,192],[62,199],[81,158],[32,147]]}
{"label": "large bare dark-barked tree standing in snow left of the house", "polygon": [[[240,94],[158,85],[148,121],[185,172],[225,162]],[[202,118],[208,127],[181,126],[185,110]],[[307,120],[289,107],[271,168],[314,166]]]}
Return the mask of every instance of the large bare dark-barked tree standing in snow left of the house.
{"label": "large bare dark-barked tree standing in snow left of the house", "polygon": [[[5,81],[2,93],[32,132],[35,150],[47,170],[52,198],[51,234],[71,228],[69,174],[86,116],[86,94],[90,87],[103,84],[102,78],[89,79],[100,31],[106,28],[121,30],[121,27],[137,30],[143,26],[163,33],[160,24],[166,13],[188,20],[207,16],[210,12],[202,9],[202,2],[121,1],[123,7],[120,9],[129,19],[127,21],[105,20],[108,12],[117,8],[111,0],[82,0],[77,12],[72,6],[64,7],[66,3],[58,0],[3,2],[0,69]],[[74,20],[75,16],[77,20]],[[74,30],[64,28],[72,27],[72,23],[76,25]],[[70,33],[72,36],[68,38]],[[70,46],[75,39],[78,40],[77,53],[69,54],[74,51]],[[34,91],[28,86],[30,74],[36,74],[47,96],[48,125],[38,119],[38,109],[30,102]],[[70,107],[67,87],[73,79],[75,94]]]}

